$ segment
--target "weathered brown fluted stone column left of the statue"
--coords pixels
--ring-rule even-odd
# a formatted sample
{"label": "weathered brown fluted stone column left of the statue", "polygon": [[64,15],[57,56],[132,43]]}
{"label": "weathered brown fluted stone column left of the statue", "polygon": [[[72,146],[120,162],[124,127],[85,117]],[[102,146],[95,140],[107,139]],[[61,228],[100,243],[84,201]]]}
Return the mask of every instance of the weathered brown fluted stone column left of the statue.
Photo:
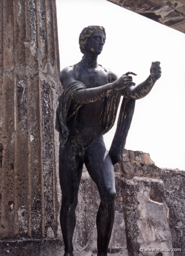
{"label": "weathered brown fluted stone column left of the statue", "polygon": [[1,240],[58,237],[59,68],[55,0],[0,0]]}

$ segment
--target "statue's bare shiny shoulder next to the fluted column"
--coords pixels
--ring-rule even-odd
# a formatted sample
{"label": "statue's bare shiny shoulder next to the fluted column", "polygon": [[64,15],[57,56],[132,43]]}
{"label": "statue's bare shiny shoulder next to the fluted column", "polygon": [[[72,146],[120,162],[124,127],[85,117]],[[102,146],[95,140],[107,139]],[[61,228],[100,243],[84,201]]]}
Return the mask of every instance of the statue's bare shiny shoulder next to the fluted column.
{"label": "statue's bare shiny shoulder next to the fluted column", "polygon": [[62,69],[60,72],[60,81],[62,83],[63,89],[65,89],[72,82],[76,81],[74,65]]}

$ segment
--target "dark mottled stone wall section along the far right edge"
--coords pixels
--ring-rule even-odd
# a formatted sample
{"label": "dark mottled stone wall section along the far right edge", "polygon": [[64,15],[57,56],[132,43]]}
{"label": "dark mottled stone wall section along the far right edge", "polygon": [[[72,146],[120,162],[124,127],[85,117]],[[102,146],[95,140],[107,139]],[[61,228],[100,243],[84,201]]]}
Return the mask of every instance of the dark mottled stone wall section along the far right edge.
{"label": "dark mottled stone wall section along the far right edge", "polygon": [[173,248],[180,248],[174,256],[185,254],[185,177],[184,172],[173,169],[161,169],[164,182],[166,203],[169,208],[169,224],[172,233]]}

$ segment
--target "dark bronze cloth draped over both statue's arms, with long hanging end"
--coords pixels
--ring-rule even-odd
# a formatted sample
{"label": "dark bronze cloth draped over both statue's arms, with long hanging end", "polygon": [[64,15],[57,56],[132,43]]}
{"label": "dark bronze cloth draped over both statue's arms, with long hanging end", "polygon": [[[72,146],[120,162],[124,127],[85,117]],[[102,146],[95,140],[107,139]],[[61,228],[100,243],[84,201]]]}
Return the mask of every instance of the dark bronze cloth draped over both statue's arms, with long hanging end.
{"label": "dark bronze cloth draped over both statue's arms, with long hanging end", "polygon": [[[56,111],[55,129],[59,132],[59,142],[61,143],[62,148],[64,148],[64,144],[69,135],[66,123],[82,106],[82,104],[77,103],[72,99],[72,95],[75,91],[82,89],[86,89],[86,86],[80,81],[75,81],[69,84],[60,96],[60,101]],[[125,88],[119,91],[113,91],[105,96],[106,108],[100,118],[100,122],[103,124],[103,134],[107,133],[114,125],[120,97],[122,94],[124,95],[124,90]],[[116,164],[122,159],[121,153],[123,153],[126,143],[127,134],[134,114],[134,107],[135,100],[123,97],[116,133],[109,151],[113,164]]]}

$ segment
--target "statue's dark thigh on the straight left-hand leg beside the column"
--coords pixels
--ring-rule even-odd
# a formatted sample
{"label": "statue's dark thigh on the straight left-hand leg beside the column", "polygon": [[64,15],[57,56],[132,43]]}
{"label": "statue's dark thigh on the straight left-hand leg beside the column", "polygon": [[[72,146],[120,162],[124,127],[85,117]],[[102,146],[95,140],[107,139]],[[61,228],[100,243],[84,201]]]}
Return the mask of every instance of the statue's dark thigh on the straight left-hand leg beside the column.
{"label": "statue's dark thigh on the straight left-hand leg beside the column", "polygon": [[78,189],[83,169],[83,158],[80,148],[72,140],[67,139],[65,148],[59,150],[59,178],[62,198],[73,202],[78,198]]}

